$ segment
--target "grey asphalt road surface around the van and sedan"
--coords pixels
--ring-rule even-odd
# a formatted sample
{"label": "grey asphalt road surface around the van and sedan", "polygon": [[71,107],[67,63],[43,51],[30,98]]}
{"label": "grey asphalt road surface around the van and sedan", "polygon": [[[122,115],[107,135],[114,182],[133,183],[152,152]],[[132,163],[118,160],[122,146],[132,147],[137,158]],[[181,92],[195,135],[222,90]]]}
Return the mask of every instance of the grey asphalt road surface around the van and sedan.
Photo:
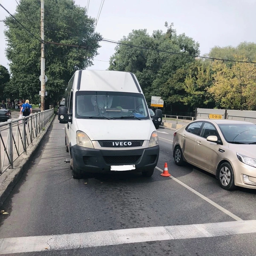
{"label": "grey asphalt road surface around the van and sedan", "polygon": [[[55,118],[0,209],[9,213],[0,215],[0,255],[256,255],[256,222],[250,222],[256,190],[225,191],[211,174],[175,166],[173,131],[158,135],[151,178],[117,173],[74,180]],[[177,180],[160,176],[165,162]]]}

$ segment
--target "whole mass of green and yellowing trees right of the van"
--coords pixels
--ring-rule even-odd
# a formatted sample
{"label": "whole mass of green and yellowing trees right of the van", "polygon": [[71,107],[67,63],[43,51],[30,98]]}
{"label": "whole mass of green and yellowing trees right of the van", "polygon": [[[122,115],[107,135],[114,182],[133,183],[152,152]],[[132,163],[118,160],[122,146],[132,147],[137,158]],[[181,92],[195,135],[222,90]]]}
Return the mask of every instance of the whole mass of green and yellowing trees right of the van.
{"label": "whole mass of green and yellowing trees right of the van", "polygon": [[[184,33],[177,35],[173,23],[166,32],[133,30],[123,37],[110,58],[109,70],[133,72],[146,100],[161,96],[167,111],[194,111],[196,107],[256,109],[256,74],[252,63],[197,59],[199,43]],[[140,47],[135,47],[140,46]],[[161,51],[158,51],[161,50]],[[256,44],[215,46],[208,57],[255,61]]]}

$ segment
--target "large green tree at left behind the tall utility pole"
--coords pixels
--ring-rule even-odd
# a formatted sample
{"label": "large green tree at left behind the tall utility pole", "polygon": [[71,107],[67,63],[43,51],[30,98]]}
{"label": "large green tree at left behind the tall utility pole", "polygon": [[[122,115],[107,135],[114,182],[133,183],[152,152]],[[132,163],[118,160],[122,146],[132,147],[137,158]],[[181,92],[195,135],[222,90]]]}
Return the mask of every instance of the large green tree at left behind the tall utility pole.
{"label": "large green tree at left behind the tall utility pole", "polygon": [[[38,100],[41,39],[41,5],[37,0],[21,0],[14,17],[21,20],[33,35],[28,33],[12,17],[7,17],[5,36],[6,56],[12,75],[10,90],[18,91],[21,98]],[[29,21],[28,20],[29,17]],[[25,21],[24,21],[25,20]],[[57,101],[65,93],[66,85],[75,70],[92,65],[97,55],[101,35],[94,32],[95,20],[86,15],[86,9],[75,5],[73,0],[45,0],[45,41],[87,47],[45,44],[46,100]]]}

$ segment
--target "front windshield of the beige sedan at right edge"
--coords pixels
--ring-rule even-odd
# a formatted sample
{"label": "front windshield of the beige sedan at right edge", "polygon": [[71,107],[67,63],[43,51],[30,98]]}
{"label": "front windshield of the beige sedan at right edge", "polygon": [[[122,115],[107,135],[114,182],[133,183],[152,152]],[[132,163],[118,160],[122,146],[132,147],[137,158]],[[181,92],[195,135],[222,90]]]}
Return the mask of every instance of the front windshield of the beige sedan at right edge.
{"label": "front windshield of the beige sedan at right edge", "polygon": [[219,128],[229,143],[235,144],[256,144],[255,124],[219,124]]}

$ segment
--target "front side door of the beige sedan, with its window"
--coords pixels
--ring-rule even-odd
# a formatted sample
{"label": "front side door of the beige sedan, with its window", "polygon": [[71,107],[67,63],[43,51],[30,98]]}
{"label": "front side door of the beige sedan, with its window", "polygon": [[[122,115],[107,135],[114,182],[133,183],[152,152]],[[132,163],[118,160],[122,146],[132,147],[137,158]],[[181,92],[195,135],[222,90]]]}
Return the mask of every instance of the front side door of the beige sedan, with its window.
{"label": "front side door of the beige sedan, with its window", "polygon": [[218,131],[213,124],[205,122],[200,135],[196,139],[194,163],[202,169],[215,173],[219,157],[219,144],[207,141],[207,137],[215,135],[220,139]]}

